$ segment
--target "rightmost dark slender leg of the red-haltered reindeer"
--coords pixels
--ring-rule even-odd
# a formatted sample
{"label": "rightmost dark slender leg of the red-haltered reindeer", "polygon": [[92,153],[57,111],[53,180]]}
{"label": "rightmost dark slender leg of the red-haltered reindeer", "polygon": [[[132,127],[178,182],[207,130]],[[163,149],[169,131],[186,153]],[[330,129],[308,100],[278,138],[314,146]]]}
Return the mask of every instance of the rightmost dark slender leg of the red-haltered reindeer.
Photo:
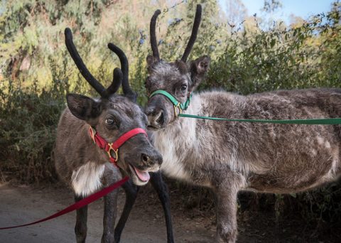
{"label": "rightmost dark slender leg of the red-haltered reindeer", "polygon": [[163,181],[161,172],[151,173],[151,185],[158,193],[158,198],[160,199],[163,207],[163,212],[165,213],[166,227],[167,227],[167,242],[173,243],[173,226],[171,217],[171,202],[169,200],[168,187]]}

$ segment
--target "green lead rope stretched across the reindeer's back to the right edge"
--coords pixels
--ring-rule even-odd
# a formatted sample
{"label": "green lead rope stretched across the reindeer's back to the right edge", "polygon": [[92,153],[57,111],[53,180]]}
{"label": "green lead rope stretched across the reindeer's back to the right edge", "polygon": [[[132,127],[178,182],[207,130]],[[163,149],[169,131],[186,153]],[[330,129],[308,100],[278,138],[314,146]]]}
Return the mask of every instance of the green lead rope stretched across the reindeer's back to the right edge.
{"label": "green lead rope stretched across the reindeer's back to the right edge", "polygon": [[178,114],[179,117],[188,117],[195,119],[207,119],[215,121],[239,121],[239,122],[257,122],[257,123],[275,123],[275,124],[305,124],[305,125],[337,125],[341,124],[341,118],[327,119],[293,119],[293,120],[265,120],[265,119],[227,119],[220,117],[202,117],[192,114]]}

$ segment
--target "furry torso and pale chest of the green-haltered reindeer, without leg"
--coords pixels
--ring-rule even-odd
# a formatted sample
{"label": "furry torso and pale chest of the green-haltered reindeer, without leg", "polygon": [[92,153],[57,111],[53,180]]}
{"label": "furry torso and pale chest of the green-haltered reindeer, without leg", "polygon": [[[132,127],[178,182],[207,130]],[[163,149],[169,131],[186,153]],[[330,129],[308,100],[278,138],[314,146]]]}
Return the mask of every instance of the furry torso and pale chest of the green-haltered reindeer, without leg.
{"label": "furry torso and pale chest of the green-haltered reindeer, without leg", "polygon": [[[186,114],[231,119],[341,117],[341,90],[292,90],[256,95],[203,92]],[[180,117],[154,131],[161,171],[214,188],[234,174],[236,186],[268,193],[313,188],[341,173],[341,126],[256,124]]]}

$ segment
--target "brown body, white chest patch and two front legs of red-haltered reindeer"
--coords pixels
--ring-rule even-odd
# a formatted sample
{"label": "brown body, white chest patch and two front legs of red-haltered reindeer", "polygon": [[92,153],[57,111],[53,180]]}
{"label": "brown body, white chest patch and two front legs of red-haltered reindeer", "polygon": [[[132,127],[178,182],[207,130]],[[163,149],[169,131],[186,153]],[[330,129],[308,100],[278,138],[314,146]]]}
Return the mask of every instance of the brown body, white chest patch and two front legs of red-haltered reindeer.
{"label": "brown body, white chest patch and two front legs of red-haltered reindeer", "polygon": [[[89,124],[72,115],[68,108],[60,117],[54,156],[56,171],[71,186],[76,202],[121,179],[119,168],[110,163],[92,141]],[[117,196],[116,190],[105,197],[102,242],[113,242]],[[77,210],[75,234],[77,242],[85,242],[87,206]]]}

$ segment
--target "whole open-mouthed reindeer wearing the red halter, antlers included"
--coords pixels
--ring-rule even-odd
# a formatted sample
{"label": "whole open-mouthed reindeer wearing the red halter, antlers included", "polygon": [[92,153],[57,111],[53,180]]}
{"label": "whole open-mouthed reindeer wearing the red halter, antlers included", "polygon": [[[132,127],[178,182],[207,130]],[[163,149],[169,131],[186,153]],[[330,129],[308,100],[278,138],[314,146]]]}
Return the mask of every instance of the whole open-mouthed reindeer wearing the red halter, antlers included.
{"label": "whole open-mouthed reindeer wearing the red halter, antlers included", "polygon": [[[124,184],[126,204],[115,231],[117,190],[104,197],[102,242],[119,242],[131,205],[136,199],[137,185],[148,183],[150,179],[148,172],[158,171],[162,156],[153,148],[146,136],[147,118],[143,110],[135,104],[136,93],[129,86],[129,66],[123,51],[112,43],[108,44],[108,47],[119,56],[122,71],[115,68],[112,84],[105,89],[82,62],[72,42],[69,28],[65,29],[65,43],[77,68],[101,97],[92,99],[83,95],[67,95],[67,108],[60,117],[55,141],[55,168],[60,178],[71,186],[76,202],[102,186],[119,180],[122,177],[121,173],[129,175],[132,182]],[[124,95],[115,95],[121,82]],[[114,141],[119,141],[121,135],[128,134],[129,131],[136,132],[119,148],[113,148]],[[94,142],[97,144],[102,142],[103,149]],[[152,173],[151,182],[163,202],[168,242],[173,242],[166,185],[160,173]],[[75,234],[77,242],[85,242],[87,206],[77,210]]]}

